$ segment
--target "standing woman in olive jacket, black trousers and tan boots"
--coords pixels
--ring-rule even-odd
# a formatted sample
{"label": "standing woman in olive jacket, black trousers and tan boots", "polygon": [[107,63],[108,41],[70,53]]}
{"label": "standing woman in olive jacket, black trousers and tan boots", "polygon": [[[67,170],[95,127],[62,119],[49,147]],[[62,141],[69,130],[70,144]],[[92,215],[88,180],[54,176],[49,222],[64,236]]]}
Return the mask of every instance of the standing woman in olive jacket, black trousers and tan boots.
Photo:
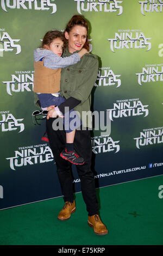
{"label": "standing woman in olive jacket, black trousers and tan boots", "polygon": [[[82,15],[74,15],[68,22],[65,29],[65,38],[68,41],[67,48],[63,57],[80,51],[83,47],[89,50],[87,40],[88,25]],[[91,90],[95,84],[98,72],[98,59],[92,54],[85,54],[80,62],[70,67],[63,68],[61,71],[61,89],[60,95],[66,98],[59,110],[65,114],[65,107],[74,108],[79,112],[82,118],[82,125],[89,127],[87,119],[82,113],[90,111]],[[57,173],[64,195],[65,205],[59,212],[58,219],[68,220],[71,214],[76,210],[74,202],[72,176],[70,173],[70,162],[60,157],[64,149],[66,137],[65,131],[53,130],[52,124],[57,113],[55,109],[48,112],[47,132],[49,143],[57,164]],[[91,117],[90,117],[91,118]],[[85,163],[77,166],[77,172],[81,181],[83,199],[88,211],[88,224],[93,227],[97,235],[106,235],[108,230],[99,218],[98,203],[96,198],[95,179],[91,170],[91,137],[88,129],[77,130],[74,139],[74,148],[84,158]]]}

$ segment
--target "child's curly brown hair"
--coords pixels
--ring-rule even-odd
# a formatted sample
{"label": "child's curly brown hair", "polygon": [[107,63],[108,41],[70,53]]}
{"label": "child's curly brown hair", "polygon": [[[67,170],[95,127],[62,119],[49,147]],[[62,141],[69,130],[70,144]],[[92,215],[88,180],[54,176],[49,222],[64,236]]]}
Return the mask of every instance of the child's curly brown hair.
{"label": "child's curly brown hair", "polygon": [[64,42],[64,47],[66,45],[66,40],[65,40],[65,36],[62,32],[60,31],[48,31],[45,36],[43,36],[43,40],[42,40],[42,44],[41,44],[41,48],[44,48],[44,45],[50,45],[51,42],[54,39],[60,38],[63,42]]}

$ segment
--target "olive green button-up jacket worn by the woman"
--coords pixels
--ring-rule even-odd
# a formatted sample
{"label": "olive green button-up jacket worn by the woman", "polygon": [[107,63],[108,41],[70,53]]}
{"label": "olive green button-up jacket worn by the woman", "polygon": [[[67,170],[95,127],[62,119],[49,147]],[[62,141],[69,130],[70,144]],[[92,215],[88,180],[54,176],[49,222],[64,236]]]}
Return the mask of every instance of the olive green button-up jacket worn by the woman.
{"label": "olive green button-up jacket worn by the woman", "polygon": [[[66,48],[63,57],[71,54]],[[98,58],[93,54],[85,54],[80,62],[62,68],[61,71],[60,95],[66,99],[74,97],[81,101],[74,109],[79,112],[84,127],[91,127],[91,90],[96,82],[97,72]],[[37,100],[35,96],[35,102]]]}

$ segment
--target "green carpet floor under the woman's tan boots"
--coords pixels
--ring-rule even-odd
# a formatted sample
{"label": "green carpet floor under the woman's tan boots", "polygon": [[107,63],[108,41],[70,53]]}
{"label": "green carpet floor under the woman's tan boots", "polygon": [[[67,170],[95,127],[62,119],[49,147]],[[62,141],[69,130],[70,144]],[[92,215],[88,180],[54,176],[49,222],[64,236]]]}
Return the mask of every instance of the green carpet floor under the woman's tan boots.
{"label": "green carpet floor under the woman's tan boots", "polygon": [[57,219],[61,197],[2,210],[0,245],[163,245],[160,185],[163,175],[97,189],[105,236],[87,225],[82,193],[67,221]]}

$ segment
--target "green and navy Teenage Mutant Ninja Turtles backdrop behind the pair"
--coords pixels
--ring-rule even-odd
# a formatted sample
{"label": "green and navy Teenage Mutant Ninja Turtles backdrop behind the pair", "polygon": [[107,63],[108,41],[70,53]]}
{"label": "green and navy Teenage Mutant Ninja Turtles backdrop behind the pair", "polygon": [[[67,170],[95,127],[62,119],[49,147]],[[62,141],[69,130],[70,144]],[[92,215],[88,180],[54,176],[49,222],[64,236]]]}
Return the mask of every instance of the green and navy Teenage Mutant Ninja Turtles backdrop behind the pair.
{"label": "green and navy Teenage Mutant Ninja Turtles backdrop behind the pair", "polygon": [[[106,131],[91,131],[96,186],[163,174],[162,6],[162,0],[1,0],[0,209],[61,196],[52,151],[41,141],[45,120],[32,119],[33,51],[75,14],[89,21],[99,59],[92,111],[103,112],[107,123]],[[78,192],[74,166],[72,172]]]}

